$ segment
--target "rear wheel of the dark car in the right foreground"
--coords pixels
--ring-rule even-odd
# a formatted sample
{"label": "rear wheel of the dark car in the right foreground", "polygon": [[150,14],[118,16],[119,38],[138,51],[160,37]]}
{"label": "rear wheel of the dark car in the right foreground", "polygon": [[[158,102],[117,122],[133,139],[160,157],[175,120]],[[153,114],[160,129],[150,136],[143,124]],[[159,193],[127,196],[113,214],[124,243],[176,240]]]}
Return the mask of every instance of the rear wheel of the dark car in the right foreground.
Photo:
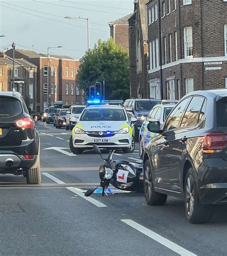
{"label": "rear wheel of the dark car in the right foreground", "polygon": [[185,211],[189,222],[194,224],[209,222],[213,215],[213,208],[211,205],[201,204],[192,167],[188,169],[185,177],[184,196]]}

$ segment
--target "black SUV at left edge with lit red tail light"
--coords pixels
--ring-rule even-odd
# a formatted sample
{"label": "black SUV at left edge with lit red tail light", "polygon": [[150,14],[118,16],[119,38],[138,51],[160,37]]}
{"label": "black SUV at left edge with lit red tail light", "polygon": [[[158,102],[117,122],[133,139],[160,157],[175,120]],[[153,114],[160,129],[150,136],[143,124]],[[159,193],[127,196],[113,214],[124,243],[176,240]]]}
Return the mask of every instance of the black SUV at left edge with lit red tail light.
{"label": "black SUV at left edge with lit red tail light", "polygon": [[0,92],[0,174],[24,175],[27,184],[40,184],[39,144],[21,94]]}

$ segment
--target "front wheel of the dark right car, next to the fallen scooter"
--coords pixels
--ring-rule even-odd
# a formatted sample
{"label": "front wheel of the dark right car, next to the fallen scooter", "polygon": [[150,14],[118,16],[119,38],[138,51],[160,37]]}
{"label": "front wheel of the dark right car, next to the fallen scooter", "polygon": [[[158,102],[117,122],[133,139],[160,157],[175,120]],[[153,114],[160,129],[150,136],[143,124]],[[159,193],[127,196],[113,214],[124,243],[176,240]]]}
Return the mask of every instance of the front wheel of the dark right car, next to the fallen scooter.
{"label": "front wheel of the dark right car, next to the fallen scooter", "polygon": [[156,192],[149,160],[144,165],[144,194],[148,205],[164,205],[167,195]]}

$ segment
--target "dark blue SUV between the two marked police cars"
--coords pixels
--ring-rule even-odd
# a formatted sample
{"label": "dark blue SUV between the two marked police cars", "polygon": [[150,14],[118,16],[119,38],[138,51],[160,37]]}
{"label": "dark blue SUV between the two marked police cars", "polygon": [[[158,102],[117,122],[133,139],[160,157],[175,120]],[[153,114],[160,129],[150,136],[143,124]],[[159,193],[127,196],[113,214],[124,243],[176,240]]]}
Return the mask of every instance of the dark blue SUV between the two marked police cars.
{"label": "dark blue SUV between the two marked police cars", "polygon": [[130,117],[136,117],[135,124],[135,139],[139,139],[139,130],[148,116],[150,110],[156,105],[161,103],[161,100],[155,99],[128,99],[124,102],[124,107]]}

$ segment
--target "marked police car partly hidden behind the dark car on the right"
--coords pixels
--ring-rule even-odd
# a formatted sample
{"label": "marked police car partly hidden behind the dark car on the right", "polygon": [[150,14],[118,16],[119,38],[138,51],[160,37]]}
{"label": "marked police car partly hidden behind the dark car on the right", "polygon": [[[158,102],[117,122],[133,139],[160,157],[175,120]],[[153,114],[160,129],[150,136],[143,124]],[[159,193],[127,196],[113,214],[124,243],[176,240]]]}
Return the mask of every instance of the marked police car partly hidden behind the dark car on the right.
{"label": "marked police car partly hidden behind the dark car on the right", "polygon": [[149,121],[156,120],[160,122],[160,125],[162,125],[177,102],[177,100],[162,100],[160,104],[155,105],[149,112],[139,131],[139,156],[141,158],[143,158],[145,145],[149,140],[156,136],[155,133],[148,131],[147,126]]}

